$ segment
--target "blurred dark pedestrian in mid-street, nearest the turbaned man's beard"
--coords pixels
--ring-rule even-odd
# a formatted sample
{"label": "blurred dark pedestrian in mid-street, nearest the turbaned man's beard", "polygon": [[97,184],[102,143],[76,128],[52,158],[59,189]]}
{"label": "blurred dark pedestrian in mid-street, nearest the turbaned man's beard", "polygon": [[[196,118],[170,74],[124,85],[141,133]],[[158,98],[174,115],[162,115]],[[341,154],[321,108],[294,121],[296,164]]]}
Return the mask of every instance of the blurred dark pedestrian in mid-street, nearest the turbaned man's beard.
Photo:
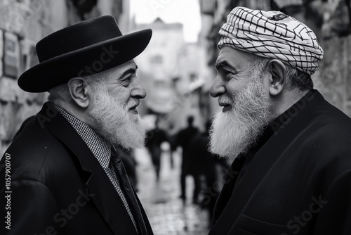
{"label": "blurred dark pedestrian in mid-street, nearest the turbaned man's beard", "polygon": [[[192,151],[190,146],[190,141],[194,136],[199,134],[199,129],[193,125],[194,117],[192,115],[187,117],[187,127],[181,129],[177,134],[176,146],[181,146],[182,151],[182,165],[180,168],[180,198],[183,200],[183,203],[186,201],[186,182],[185,179],[188,174],[194,175],[197,173],[197,166],[192,164]],[[193,203],[196,203],[197,196],[199,194],[200,182],[197,180],[197,177],[194,177],[194,193],[192,196]]]}

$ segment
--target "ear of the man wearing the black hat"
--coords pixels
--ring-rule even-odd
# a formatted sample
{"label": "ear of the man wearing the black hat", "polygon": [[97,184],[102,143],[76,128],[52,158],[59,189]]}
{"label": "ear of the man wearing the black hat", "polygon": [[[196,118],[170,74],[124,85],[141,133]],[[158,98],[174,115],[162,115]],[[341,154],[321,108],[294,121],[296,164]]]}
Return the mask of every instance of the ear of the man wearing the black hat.
{"label": "ear of the man wearing the black hat", "polygon": [[89,96],[86,81],[81,77],[73,77],[67,82],[67,87],[73,101],[81,108],[88,108]]}

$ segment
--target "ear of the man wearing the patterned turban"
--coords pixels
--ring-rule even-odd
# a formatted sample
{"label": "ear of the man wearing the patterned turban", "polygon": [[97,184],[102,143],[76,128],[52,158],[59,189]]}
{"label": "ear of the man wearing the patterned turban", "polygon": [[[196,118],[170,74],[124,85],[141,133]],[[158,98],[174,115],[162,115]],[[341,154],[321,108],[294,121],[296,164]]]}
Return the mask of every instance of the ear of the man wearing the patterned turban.
{"label": "ear of the man wearing the patterned turban", "polygon": [[267,65],[270,72],[270,95],[279,95],[286,84],[286,68],[282,61],[274,59]]}

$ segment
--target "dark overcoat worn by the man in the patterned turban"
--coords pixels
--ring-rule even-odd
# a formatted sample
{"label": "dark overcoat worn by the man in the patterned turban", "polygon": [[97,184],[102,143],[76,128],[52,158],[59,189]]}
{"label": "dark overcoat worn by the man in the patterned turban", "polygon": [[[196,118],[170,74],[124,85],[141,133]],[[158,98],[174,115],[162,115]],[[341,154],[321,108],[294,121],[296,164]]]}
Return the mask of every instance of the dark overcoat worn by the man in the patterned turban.
{"label": "dark overcoat worn by the man in the patterned turban", "polygon": [[230,167],[209,234],[350,235],[350,118],[316,90],[279,118],[244,174]]}

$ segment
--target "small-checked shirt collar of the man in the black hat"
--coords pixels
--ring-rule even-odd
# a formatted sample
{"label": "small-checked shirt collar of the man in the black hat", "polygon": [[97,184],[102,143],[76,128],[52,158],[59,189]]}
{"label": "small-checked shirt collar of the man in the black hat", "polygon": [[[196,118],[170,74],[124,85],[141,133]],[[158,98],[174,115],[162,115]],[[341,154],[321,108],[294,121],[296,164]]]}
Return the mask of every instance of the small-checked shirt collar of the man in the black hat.
{"label": "small-checked shirt collar of the man in the black hat", "polygon": [[67,111],[55,104],[51,103],[53,107],[55,107],[58,112],[67,119],[70,125],[76,130],[76,132],[81,136],[81,139],[86,143],[88,148],[91,150],[93,155],[98,162],[102,166],[102,168],[106,169],[110,164],[111,158],[111,144],[106,139],[102,138],[100,134],[95,132],[91,127],[86,125],[86,123],[82,122],[78,118],[73,115],[67,113]]}

